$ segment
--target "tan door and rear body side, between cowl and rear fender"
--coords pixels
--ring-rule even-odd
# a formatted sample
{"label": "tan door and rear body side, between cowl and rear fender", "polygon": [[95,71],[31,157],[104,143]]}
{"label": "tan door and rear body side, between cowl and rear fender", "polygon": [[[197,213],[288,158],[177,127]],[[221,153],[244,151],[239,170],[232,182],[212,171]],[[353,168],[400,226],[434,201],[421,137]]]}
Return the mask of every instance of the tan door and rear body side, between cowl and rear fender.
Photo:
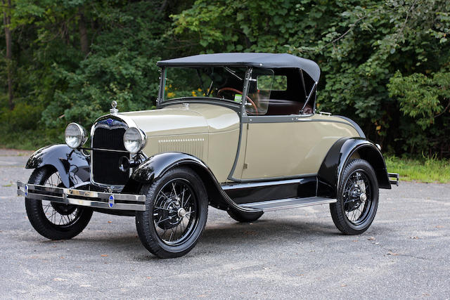
{"label": "tan door and rear body side, between cowl and rear fender", "polygon": [[313,115],[298,119],[248,124],[243,179],[317,174],[338,139],[359,136],[349,122],[338,117]]}

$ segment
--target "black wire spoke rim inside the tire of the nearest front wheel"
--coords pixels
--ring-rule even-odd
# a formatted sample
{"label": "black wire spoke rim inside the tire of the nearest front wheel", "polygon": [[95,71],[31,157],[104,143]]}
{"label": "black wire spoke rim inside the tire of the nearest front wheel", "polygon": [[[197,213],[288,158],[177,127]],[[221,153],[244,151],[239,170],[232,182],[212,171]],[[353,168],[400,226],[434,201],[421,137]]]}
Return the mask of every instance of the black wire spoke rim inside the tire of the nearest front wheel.
{"label": "black wire spoke rim inside the tire of the nearest front wheel", "polygon": [[198,200],[191,185],[183,178],[166,183],[155,198],[153,225],[162,242],[184,242],[198,223]]}

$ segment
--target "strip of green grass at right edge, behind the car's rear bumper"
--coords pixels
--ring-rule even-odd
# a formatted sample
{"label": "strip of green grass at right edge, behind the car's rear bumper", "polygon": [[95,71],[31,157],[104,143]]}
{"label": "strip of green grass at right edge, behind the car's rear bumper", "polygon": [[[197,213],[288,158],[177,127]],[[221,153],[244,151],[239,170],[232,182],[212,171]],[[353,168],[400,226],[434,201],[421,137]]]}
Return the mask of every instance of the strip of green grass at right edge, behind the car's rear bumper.
{"label": "strip of green grass at right edge, behind the car's rear bumper", "polygon": [[450,159],[386,156],[385,160],[387,171],[400,174],[400,181],[450,183]]}

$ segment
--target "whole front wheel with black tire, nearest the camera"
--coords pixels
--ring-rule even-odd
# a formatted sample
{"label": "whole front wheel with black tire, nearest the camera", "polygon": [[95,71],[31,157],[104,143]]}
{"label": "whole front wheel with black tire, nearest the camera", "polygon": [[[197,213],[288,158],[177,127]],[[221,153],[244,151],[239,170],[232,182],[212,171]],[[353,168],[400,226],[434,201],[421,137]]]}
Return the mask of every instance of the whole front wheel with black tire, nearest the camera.
{"label": "whole front wheel with black tire, nearest the camera", "polygon": [[175,168],[144,185],[141,194],[146,195],[146,210],[136,213],[136,229],[144,247],[164,259],[190,252],[208,214],[207,192],[200,177],[191,169]]}

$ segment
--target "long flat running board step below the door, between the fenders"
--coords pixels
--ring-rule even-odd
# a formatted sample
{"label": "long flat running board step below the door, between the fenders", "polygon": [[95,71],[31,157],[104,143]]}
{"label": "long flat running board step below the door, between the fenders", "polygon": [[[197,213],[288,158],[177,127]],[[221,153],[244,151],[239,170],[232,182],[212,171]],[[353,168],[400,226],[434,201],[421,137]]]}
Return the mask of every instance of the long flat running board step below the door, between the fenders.
{"label": "long flat running board step below the door, between the fenders", "polygon": [[293,209],[297,207],[309,207],[311,205],[335,203],[335,199],[326,197],[288,198],[239,204],[240,207],[258,209],[262,211],[273,211],[278,209]]}

